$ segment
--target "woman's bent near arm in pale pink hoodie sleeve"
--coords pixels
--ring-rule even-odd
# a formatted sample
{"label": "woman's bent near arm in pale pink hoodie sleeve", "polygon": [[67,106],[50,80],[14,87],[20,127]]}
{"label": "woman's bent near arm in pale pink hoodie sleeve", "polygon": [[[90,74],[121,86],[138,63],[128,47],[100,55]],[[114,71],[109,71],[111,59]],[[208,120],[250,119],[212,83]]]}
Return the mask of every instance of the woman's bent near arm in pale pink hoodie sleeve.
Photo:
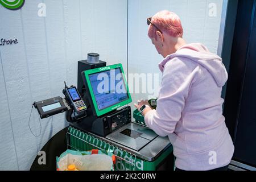
{"label": "woman's bent near arm in pale pink hoodie sleeve", "polygon": [[156,110],[148,109],[143,113],[146,125],[156,134],[165,137],[174,132],[189,88],[199,73],[199,66],[188,59],[175,58],[165,65]]}

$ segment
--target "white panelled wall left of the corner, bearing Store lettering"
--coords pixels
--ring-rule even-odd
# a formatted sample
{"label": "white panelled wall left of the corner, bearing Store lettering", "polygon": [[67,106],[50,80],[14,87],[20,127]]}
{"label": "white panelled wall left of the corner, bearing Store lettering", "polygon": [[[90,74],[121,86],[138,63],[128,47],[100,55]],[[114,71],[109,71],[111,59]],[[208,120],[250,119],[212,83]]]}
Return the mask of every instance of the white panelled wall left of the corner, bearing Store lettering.
{"label": "white panelled wall left of the corner, bearing Store lettering", "polygon": [[[46,3],[46,17],[38,4]],[[37,152],[67,126],[64,114],[42,119],[34,137],[28,117],[34,101],[62,96],[64,81],[77,85],[77,61],[97,52],[127,68],[127,0],[26,0],[20,10],[0,5],[0,170],[30,169]],[[39,134],[34,109],[31,128]]]}

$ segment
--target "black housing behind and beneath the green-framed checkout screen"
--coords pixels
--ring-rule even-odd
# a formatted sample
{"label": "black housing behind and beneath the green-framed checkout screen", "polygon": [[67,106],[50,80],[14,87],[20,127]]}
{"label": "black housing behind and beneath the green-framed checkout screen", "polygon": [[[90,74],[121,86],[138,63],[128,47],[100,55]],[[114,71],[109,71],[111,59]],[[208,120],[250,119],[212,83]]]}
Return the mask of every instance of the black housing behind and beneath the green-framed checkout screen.
{"label": "black housing behind and beneath the green-framed checkout screen", "polygon": [[87,60],[78,62],[77,90],[87,106],[87,116],[76,122],[70,123],[71,126],[76,127],[77,129],[88,131],[101,137],[106,137],[106,135],[112,133],[114,130],[117,130],[131,122],[130,106],[123,107],[120,110],[114,110],[108,114],[102,115],[101,117],[97,117],[96,112],[94,111],[92,97],[90,96],[88,85],[84,76],[82,76],[82,72],[88,69],[105,66],[105,61],[100,61],[97,64],[88,63]]}

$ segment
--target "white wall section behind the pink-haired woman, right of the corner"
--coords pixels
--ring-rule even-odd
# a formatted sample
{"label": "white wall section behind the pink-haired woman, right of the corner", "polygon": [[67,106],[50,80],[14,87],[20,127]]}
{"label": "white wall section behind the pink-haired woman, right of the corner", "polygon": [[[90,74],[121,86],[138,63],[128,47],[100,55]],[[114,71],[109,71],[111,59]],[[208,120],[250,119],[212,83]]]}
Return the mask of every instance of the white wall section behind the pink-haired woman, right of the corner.
{"label": "white wall section behind the pink-haired woman, right of the corner", "polygon": [[[213,10],[212,6],[209,7],[210,3],[216,5],[216,16],[209,16],[209,11],[212,13]],[[222,3],[223,0],[129,0],[129,73],[152,73],[152,75],[156,73],[159,74],[159,77],[156,77],[159,81],[156,80],[156,82],[160,83],[162,75],[158,69],[158,63],[163,57],[158,55],[147,36],[146,18],[161,10],[170,10],[180,16],[184,28],[184,39],[187,43],[200,42],[205,44],[211,52],[217,53]],[[150,80],[147,79],[147,83]],[[141,85],[142,90],[145,86]],[[155,85],[154,82],[152,85]],[[154,88],[156,88],[154,94],[148,89],[144,94],[131,94],[133,101],[157,97],[158,89],[155,86]]]}

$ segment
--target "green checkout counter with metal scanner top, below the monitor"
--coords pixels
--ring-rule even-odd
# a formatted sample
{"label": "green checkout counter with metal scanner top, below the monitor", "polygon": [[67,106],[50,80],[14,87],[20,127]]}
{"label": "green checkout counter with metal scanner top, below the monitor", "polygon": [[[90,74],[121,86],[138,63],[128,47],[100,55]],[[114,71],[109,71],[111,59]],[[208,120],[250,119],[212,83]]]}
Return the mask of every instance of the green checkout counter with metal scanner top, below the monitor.
{"label": "green checkout counter with metal scanner top, below the monitor", "polygon": [[[133,114],[138,118],[138,110]],[[136,122],[140,124],[131,122],[106,137],[83,132],[71,125],[67,133],[68,148],[112,151],[117,156],[114,169],[118,171],[173,170],[173,148],[168,137],[159,137],[143,126],[142,120],[136,119]]]}

